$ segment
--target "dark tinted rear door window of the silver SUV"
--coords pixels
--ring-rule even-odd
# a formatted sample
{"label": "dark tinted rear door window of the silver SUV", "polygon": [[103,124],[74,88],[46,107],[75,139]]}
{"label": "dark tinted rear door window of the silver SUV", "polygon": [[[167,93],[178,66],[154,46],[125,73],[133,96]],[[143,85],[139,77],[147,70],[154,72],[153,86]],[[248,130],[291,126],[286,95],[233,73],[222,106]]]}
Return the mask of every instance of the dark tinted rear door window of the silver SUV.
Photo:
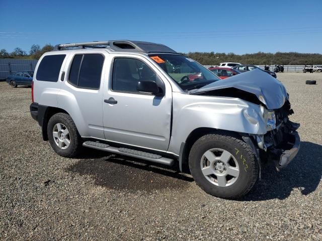
{"label": "dark tinted rear door window of the silver SUV", "polygon": [[104,57],[100,54],[77,54],[74,56],[68,82],[79,88],[99,89]]}

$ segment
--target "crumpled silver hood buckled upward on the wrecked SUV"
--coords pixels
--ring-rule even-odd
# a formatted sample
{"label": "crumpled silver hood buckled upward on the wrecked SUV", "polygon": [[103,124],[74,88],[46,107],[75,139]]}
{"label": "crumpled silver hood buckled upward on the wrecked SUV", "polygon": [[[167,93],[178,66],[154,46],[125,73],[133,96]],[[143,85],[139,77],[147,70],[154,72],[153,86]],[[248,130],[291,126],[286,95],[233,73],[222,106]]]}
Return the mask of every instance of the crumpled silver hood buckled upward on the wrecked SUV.
{"label": "crumpled silver hood buckled upward on the wrecked SUV", "polygon": [[287,98],[284,85],[276,78],[259,69],[213,82],[200,89],[192,90],[190,94],[204,93],[224,88],[236,88],[253,93],[268,109],[282,107]]}

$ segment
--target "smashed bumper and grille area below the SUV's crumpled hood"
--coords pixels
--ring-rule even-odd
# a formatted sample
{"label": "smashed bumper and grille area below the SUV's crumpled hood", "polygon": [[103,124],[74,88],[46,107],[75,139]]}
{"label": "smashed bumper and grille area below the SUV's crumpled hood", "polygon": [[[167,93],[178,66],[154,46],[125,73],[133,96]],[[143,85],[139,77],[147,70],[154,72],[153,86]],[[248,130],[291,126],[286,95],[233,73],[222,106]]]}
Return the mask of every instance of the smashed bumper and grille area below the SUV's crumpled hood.
{"label": "smashed bumper and grille area below the SUV's crumpled hood", "polygon": [[275,127],[265,135],[254,135],[262,160],[273,161],[279,170],[286,167],[296,156],[300,147],[300,138],[296,130],[299,124],[293,123],[288,116],[293,112],[288,100],[275,109]]}

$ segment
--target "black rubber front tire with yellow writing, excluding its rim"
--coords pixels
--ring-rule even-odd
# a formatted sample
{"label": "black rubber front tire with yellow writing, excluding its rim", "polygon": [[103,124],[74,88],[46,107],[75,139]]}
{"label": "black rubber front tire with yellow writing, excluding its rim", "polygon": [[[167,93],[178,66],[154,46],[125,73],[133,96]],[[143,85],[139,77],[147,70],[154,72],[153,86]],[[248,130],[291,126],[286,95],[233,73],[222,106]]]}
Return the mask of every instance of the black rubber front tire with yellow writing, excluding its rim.
{"label": "black rubber front tire with yellow writing, excluding its rim", "polygon": [[[205,160],[203,155],[208,150],[215,148],[228,151],[232,156],[229,160],[236,161],[238,164],[239,175],[231,185],[225,187],[215,185],[209,180],[209,177],[216,176],[210,175],[206,177],[202,173],[201,163]],[[259,165],[252,148],[237,136],[230,136],[225,133],[208,134],[197,140],[189,154],[189,168],[197,185],[205,192],[216,197],[228,199],[238,198],[247,194],[256,183],[259,175]],[[229,176],[225,177],[226,183],[229,181],[227,177]]]}

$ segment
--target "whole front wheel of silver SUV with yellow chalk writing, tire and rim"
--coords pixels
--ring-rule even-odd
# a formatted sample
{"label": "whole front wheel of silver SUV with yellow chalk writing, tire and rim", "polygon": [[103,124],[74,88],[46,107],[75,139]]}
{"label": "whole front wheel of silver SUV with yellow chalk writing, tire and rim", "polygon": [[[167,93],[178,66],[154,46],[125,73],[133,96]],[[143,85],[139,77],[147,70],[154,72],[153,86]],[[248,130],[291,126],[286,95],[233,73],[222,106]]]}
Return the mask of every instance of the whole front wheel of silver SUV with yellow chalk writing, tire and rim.
{"label": "whole front wheel of silver SUV with yellow chalk writing, tire and rim", "polygon": [[[215,160],[211,165],[210,159],[213,156],[210,155],[209,159],[205,157],[206,153],[209,157],[209,152],[215,154],[217,158],[220,156],[220,161]],[[223,156],[228,157],[229,154],[230,158],[226,158],[228,161],[223,165],[225,163],[221,161],[225,159]],[[202,171],[204,164],[206,164],[206,168],[203,167],[204,171]],[[227,199],[235,199],[247,194],[256,183],[259,175],[259,165],[252,148],[238,137],[225,135],[225,133],[208,134],[197,140],[189,154],[189,168],[201,189],[210,195]],[[217,169],[215,170],[215,168]],[[210,175],[203,174],[206,169],[211,173]],[[233,170],[234,176],[227,175],[224,179],[221,177],[219,182],[218,176],[227,174],[228,170]],[[236,170],[238,171],[237,175]]]}

